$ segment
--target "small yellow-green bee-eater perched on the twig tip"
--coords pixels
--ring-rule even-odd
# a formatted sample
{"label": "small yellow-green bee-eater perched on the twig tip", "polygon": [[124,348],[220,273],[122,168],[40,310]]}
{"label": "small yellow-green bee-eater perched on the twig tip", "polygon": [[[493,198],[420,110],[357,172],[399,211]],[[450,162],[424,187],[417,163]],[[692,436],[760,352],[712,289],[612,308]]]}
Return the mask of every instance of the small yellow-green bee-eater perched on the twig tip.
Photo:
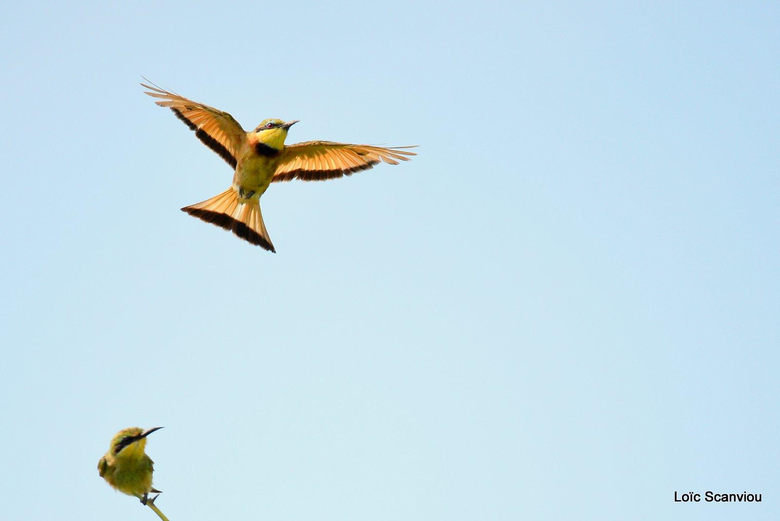
{"label": "small yellow-green bee-eater perched on the twig tip", "polygon": [[150,492],[160,491],[151,486],[154,462],[144,452],[146,437],[161,429],[152,427],[146,431],[140,427],[122,429],[114,435],[108,452],[97,462],[97,472],[116,490],[135,496],[144,505]]}

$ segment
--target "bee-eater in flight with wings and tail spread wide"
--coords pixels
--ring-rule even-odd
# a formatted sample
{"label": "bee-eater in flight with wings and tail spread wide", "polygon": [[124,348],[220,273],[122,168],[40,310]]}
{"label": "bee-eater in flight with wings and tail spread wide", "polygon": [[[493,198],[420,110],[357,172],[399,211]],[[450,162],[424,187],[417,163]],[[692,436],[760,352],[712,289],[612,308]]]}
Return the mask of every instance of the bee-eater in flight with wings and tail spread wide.
{"label": "bee-eater in flight with wings and tail spread wide", "polygon": [[[151,82],[150,82],[151,83]],[[163,90],[154,83],[146,92],[161,107],[195,132],[195,136],[235,170],[232,186],[202,203],[183,207],[193,217],[231,230],[236,236],[276,252],[260,212],[260,197],[271,183],[302,179],[321,181],[373,168],[380,161],[398,165],[417,155],[402,151],[413,147],[374,147],[333,141],[306,141],[285,146],[287,131],[298,120],[266,119],[246,132],[232,115]]]}

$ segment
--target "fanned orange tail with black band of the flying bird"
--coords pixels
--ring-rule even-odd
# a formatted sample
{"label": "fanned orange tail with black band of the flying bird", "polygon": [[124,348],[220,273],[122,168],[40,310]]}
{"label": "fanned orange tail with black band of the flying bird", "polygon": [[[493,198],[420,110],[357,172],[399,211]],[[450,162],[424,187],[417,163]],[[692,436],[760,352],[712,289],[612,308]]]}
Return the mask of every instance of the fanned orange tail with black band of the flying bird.
{"label": "fanned orange tail with black band of the flying bird", "polygon": [[230,230],[241,239],[276,253],[271,239],[268,238],[268,230],[265,229],[263,214],[260,213],[260,202],[250,200],[240,204],[236,190],[232,188],[202,203],[183,207],[182,211],[202,221]]}

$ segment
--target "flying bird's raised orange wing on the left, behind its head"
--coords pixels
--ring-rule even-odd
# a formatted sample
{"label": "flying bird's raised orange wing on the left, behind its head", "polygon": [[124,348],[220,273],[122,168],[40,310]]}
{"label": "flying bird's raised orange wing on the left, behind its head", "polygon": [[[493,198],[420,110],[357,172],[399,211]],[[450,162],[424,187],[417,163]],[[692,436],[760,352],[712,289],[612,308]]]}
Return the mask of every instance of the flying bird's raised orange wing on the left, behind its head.
{"label": "flying bird's raised orange wing on the left, behind its head", "polygon": [[199,140],[219,154],[222,159],[228,161],[230,166],[236,168],[238,163],[236,158],[243,140],[246,140],[246,132],[241,128],[239,122],[233,119],[232,115],[163,90],[154,83],[151,85],[141,83],[141,87],[152,90],[153,92],[144,94],[163,100],[155,101],[155,103],[161,107],[170,108],[177,118],[195,132],[195,136]]}

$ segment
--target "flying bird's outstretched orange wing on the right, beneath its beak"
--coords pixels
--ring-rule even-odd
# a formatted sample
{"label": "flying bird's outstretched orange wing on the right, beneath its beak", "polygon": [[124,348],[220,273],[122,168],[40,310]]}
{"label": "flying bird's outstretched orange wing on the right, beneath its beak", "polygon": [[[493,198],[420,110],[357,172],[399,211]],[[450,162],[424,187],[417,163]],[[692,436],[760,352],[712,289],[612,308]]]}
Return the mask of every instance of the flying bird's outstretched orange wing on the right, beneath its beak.
{"label": "flying bird's outstretched orange wing on the right, beneath its beak", "polygon": [[398,165],[397,160],[409,161],[406,156],[417,155],[400,149],[413,147],[386,148],[333,141],[296,143],[284,147],[279,154],[279,165],[272,180],[274,182],[293,179],[322,181],[368,170],[380,161],[385,161],[389,165]]}

